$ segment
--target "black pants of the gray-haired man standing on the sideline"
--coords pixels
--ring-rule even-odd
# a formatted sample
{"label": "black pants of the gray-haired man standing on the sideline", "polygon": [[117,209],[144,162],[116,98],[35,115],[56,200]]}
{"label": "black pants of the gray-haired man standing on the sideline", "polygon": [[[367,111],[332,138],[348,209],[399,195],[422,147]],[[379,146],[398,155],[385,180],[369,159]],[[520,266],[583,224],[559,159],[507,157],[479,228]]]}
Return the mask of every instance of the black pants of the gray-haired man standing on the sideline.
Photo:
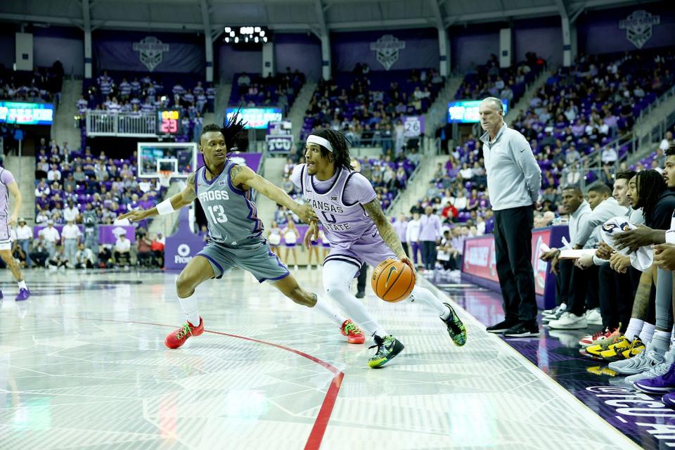
{"label": "black pants of the gray-haired man standing on the sideline", "polygon": [[532,271],[534,207],[494,212],[497,275],[508,321],[535,323],[536,295]]}

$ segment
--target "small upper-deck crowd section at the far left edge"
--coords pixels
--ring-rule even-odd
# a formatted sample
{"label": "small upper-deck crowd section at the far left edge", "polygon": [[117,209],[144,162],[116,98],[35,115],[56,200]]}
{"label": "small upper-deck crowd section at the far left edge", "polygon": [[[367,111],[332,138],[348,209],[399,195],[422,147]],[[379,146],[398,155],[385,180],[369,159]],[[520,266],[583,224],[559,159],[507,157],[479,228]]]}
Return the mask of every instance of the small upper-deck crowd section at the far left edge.
{"label": "small upper-deck crowd section at the far left edge", "polygon": [[47,103],[57,101],[63,85],[63,64],[31,71],[11,70],[0,65],[0,100]]}

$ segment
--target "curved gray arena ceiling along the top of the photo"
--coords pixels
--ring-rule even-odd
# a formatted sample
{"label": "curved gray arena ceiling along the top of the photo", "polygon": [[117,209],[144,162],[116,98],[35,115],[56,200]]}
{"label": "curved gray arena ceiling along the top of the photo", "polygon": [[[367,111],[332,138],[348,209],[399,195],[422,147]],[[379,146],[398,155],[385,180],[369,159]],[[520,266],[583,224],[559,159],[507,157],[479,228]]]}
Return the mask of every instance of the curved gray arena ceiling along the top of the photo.
{"label": "curved gray arena ceiling along the top of the photo", "polygon": [[281,32],[450,27],[655,3],[648,0],[1,0],[0,20],[86,30],[205,32],[260,25]]}

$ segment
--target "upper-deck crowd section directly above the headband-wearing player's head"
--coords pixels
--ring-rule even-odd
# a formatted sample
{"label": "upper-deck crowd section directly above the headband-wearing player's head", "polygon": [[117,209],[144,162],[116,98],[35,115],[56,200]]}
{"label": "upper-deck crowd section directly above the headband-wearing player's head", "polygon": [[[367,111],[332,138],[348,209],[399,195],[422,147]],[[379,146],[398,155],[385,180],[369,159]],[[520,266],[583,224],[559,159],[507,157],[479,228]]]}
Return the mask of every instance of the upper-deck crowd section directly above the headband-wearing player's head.
{"label": "upper-deck crowd section directly above the headband-wearing player's head", "polygon": [[404,116],[423,115],[444,79],[435,69],[371,71],[356,65],[321,80],[305,114],[300,141],[313,129],[342,131],[354,146],[383,146],[398,156],[406,148]]}

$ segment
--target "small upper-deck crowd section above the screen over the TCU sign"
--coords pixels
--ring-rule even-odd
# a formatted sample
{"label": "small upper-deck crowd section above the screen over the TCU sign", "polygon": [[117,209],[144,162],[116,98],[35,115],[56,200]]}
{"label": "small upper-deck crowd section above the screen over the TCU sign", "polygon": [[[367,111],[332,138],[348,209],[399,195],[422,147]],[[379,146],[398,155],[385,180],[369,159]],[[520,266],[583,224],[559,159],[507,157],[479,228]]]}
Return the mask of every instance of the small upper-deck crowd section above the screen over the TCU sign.
{"label": "small upper-deck crowd section above the screen over the TCU sign", "polygon": [[285,72],[277,75],[252,75],[246,72],[235,74],[235,82],[230,94],[230,105],[278,106],[284,115],[293,105],[293,101],[302,89],[305,82],[304,74],[300,70]]}

